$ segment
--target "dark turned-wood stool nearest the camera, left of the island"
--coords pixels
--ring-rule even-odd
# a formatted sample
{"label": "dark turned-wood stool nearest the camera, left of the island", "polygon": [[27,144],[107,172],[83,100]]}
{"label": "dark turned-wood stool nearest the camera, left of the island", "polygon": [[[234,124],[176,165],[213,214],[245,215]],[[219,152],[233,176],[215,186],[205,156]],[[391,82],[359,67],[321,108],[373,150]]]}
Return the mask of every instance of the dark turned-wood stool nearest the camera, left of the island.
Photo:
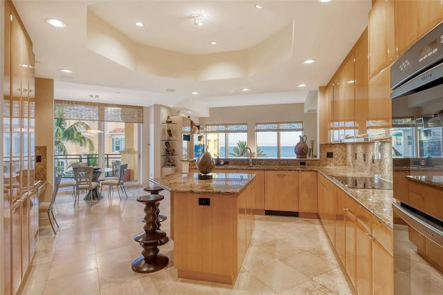
{"label": "dark turned-wood stool nearest the camera, left of the island", "polygon": [[145,204],[145,226],[140,234],[134,236],[143,251],[142,256],[134,260],[132,270],[139,273],[156,272],[169,263],[168,256],[159,254],[159,241],[166,237],[166,233],[159,229],[159,205],[165,197],[161,195],[141,196],[137,202]]}

